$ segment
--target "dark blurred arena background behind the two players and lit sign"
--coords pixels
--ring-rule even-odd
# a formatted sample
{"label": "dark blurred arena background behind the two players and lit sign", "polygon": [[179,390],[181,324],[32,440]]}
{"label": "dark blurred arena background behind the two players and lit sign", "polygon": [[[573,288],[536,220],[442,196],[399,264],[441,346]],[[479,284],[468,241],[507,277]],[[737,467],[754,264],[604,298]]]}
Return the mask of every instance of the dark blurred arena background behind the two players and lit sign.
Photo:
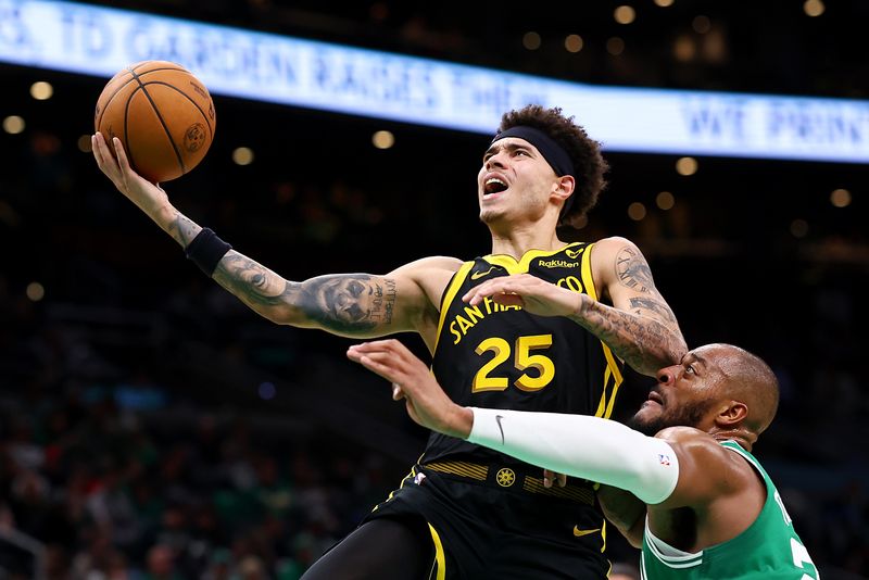
{"label": "dark blurred arena background behind the two players and lit sign", "polygon": [[[629,25],[609,1],[102,3],[583,83],[867,97],[859,1],[809,17],[798,1],[643,0]],[[540,49],[522,47],[528,30]],[[0,78],[0,117],[27,122],[0,134],[0,521],[45,544],[52,578],[169,578],[163,547],[176,577],[298,577],[399,482],[425,433],[344,360],[351,341],[260,319],[112,188],[78,147],[105,79],[7,65]],[[37,80],[52,99],[29,97]],[[488,253],[475,182],[486,137],[215,105],[205,161],[165,189],[284,276]],[[371,146],[380,129],[392,149]],[[242,146],[251,165],[231,162]],[[606,156],[607,190],[564,239],[630,238],[690,346],[732,342],[769,362],[782,404],[755,452],[823,577],[869,575],[866,167],[698,157],[684,177],[672,155]],[[840,188],[845,207],[831,203]],[[28,298],[33,282],[43,297],[30,286]],[[622,415],[648,386],[629,376]],[[637,556],[614,538],[613,557]],[[0,566],[33,573],[11,549]]]}

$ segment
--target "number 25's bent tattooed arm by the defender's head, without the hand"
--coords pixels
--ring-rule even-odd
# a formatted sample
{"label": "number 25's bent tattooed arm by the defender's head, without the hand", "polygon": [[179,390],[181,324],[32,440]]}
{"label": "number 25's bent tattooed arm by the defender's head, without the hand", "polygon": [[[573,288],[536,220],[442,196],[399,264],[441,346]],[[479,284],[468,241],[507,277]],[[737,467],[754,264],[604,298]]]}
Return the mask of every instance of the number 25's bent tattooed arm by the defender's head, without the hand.
{"label": "number 25's bent tattooed arm by the defender's head, without the hand", "polygon": [[607,306],[582,294],[574,319],[644,375],[678,363],[688,351],[679,324],[652,279],[643,254],[625,238],[599,241],[592,275]]}

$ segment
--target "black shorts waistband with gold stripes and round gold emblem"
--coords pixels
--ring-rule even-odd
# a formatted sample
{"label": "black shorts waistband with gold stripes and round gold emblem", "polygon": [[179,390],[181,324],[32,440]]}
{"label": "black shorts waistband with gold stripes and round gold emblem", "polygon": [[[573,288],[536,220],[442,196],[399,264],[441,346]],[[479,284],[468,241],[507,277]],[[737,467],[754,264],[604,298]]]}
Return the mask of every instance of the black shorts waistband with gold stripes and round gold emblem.
{"label": "black shorts waistband with gold stripes and round gold emblem", "polygon": [[515,466],[498,464],[476,464],[470,462],[431,462],[420,465],[423,469],[446,474],[451,477],[465,481],[476,481],[488,487],[522,491],[562,500],[594,505],[594,490],[591,483],[578,486],[567,480],[567,486],[559,488],[557,484],[551,488],[543,487],[543,469],[539,476],[534,477],[530,472],[517,469]]}

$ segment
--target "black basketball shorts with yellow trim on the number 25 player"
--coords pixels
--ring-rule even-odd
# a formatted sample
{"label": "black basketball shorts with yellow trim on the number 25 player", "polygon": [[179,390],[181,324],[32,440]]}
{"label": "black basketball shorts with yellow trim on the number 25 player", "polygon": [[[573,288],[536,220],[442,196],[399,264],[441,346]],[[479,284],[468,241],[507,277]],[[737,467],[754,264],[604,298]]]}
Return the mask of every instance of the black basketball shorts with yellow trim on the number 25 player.
{"label": "black basketball shorts with yellow trim on the number 25 player", "polygon": [[543,487],[542,469],[436,462],[417,465],[365,521],[424,519],[437,580],[605,579],[606,524],[593,487]]}

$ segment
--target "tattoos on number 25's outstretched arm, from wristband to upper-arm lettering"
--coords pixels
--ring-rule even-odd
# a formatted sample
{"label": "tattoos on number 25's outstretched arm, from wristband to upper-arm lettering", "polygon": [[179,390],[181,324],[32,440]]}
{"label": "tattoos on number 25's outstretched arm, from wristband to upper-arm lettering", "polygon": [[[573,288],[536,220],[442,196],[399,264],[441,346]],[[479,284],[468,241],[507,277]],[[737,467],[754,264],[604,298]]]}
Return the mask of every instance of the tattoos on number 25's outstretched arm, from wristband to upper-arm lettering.
{"label": "tattoos on number 25's outstretched arm, from wristband to upper-arm lettering", "polygon": [[214,279],[248,306],[277,323],[318,327],[351,337],[392,332],[398,286],[367,274],[285,280],[270,269],[230,251]]}

